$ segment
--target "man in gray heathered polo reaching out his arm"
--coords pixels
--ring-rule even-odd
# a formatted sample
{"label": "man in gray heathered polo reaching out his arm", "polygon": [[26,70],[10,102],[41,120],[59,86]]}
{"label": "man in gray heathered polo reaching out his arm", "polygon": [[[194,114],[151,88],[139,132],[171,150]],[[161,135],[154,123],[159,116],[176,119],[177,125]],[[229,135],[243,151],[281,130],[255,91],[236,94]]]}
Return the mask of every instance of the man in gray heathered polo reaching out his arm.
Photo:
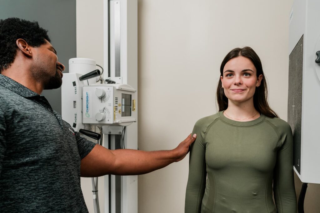
{"label": "man in gray heathered polo reaching out his arm", "polygon": [[80,175],[148,173],[183,159],[195,140],[147,152],[80,137],[40,95],[61,86],[64,69],[37,22],[0,20],[1,212],[87,212]]}

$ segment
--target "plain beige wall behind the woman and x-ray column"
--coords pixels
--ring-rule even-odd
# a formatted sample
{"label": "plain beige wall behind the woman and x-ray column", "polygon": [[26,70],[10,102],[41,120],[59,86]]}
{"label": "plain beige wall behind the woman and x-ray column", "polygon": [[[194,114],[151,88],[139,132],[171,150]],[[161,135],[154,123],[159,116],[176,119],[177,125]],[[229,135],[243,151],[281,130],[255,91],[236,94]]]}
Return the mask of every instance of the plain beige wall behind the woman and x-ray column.
{"label": "plain beige wall behind the woman and x-ray column", "polygon": [[[258,53],[270,105],[287,120],[292,2],[138,0],[139,149],[174,148],[197,119],[217,111],[220,63],[235,47],[250,46]],[[77,0],[77,57],[94,58],[102,65],[102,42],[102,0]],[[139,213],[183,212],[187,178],[188,156],[140,175]],[[297,179],[297,193],[300,184]],[[82,179],[82,188],[93,212],[90,179]],[[306,212],[320,209],[319,196],[319,185],[310,184]]]}

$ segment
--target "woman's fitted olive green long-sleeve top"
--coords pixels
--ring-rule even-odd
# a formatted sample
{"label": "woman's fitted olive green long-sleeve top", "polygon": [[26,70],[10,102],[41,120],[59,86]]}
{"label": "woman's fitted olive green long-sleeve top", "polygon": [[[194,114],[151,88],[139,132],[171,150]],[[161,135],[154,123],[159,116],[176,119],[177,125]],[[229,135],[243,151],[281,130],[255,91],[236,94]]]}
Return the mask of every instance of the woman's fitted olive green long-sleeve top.
{"label": "woman's fitted olive green long-sleeve top", "polygon": [[264,115],[240,122],[220,111],[198,120],[193,133],[185,213],[296,212],[287,122]]}

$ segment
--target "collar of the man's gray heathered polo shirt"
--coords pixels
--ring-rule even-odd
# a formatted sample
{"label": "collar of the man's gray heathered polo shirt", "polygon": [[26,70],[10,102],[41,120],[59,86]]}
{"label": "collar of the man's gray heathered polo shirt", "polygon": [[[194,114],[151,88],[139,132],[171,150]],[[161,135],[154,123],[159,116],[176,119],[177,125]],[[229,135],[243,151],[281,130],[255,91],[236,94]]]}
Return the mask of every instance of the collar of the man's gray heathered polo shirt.
{"label": "collar of the man's gray heathered polo shirt", "polygon": [[4,86],[7,89],[10,89],[12,92],[21,95],[22,97],[34,97],[39,96],[36,92],[28,89],[27,87],[23,86],[22,84],[18,83],[11,78],[0,74],[0,85]]}

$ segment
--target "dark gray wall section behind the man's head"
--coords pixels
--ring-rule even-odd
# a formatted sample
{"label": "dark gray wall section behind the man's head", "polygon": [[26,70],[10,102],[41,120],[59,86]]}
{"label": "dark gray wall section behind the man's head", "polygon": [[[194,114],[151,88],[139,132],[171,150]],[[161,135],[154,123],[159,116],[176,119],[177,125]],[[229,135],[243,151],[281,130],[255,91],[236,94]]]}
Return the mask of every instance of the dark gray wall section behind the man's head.
{"label": "dark gray wall section behind the man's head", "polygon": [[[68,72],[69,58],[76,57],[76,0],[0,0],[0,19],[18,17],[38,21],[47,30],[59,61]],[[61,88],[42,93],[61,114]]]}

